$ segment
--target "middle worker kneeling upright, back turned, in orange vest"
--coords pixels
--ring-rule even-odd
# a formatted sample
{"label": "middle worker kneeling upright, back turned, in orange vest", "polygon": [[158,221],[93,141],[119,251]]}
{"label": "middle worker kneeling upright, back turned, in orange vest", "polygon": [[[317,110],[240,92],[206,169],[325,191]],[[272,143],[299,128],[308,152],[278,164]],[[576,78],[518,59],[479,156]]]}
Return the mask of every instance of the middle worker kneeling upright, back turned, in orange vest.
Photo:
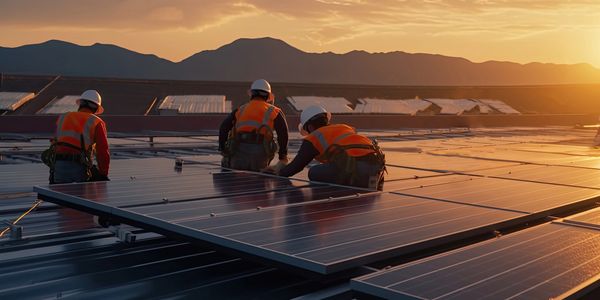
{"label": "middle worker kneeling upright, back turned, in orange vest", "polygon": [[[250,101],[232,111],[221,123],[221,165],[238,170],[260,171],[271,163],[278,152],[276,166],[282,168],[288,162],[285,115],[274,105],[275,95],[266,80],[254,81],[248,95]],[[277,142],[273,131],[277,133]]]}

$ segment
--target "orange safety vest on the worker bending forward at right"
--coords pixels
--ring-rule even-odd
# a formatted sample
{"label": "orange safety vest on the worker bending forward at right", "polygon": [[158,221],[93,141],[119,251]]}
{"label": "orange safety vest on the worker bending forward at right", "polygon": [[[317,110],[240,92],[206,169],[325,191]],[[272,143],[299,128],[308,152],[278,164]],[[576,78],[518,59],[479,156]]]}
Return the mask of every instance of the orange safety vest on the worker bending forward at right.
{"label": "orange safety vest on the worker bending forward at right", "polygon": [[315,159],[322,163],[329,162],[327,154],[332,150],[332,145],[348,146],[349,148],[344,151],[346,151],[348,156],[352,157],[361,157],[375,153],[373,147],[352,148],[352,145],[372,146],[373,141],[366,136],[357,134],[354,128],[344,124],[323,126],[311,132],[304,139],[313,144],[315,149],[319,151],[319,155]]}

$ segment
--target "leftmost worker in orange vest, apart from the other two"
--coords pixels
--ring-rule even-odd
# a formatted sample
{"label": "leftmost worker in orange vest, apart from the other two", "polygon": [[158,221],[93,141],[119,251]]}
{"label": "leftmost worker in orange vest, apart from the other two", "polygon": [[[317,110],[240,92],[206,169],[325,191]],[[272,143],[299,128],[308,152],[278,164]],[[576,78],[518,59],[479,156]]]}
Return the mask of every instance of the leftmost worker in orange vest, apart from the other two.
{"label": "leftmost worker in orange vest, apart from the other two", "polygon": [[[56,138],[43,155],[44,163],[50,166],[50,183],[109,180],[106,124],[97,116],[104,111],[102,98],[97,91],[87,90],[77,105],[76,112],[58,118]],[[93,164],[93,156],[97,166]]]}

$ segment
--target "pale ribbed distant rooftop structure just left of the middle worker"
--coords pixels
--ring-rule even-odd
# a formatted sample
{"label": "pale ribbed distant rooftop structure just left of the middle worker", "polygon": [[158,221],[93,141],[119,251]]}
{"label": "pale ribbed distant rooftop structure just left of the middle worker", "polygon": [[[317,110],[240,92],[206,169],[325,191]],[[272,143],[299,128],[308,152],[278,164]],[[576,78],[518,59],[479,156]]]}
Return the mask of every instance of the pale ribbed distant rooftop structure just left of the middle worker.
{"label": "pale ribbed distant rooftop structure just left of the middle worker", "polygon": [[224,95],[170,95],[158,107],[159,114],[202,114],[231,112]]}

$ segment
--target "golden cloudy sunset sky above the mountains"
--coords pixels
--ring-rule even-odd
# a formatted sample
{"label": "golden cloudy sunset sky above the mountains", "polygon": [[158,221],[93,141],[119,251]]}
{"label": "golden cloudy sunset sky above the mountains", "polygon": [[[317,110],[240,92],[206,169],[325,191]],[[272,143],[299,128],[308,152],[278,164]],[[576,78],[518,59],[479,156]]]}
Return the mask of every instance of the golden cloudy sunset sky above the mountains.
{"label": "golden cloudy sunset sky above the mountains", "polygon": [[180,61],[238,38],[600,68],[600,0],[0,0],[0,45],[59,39]]}

